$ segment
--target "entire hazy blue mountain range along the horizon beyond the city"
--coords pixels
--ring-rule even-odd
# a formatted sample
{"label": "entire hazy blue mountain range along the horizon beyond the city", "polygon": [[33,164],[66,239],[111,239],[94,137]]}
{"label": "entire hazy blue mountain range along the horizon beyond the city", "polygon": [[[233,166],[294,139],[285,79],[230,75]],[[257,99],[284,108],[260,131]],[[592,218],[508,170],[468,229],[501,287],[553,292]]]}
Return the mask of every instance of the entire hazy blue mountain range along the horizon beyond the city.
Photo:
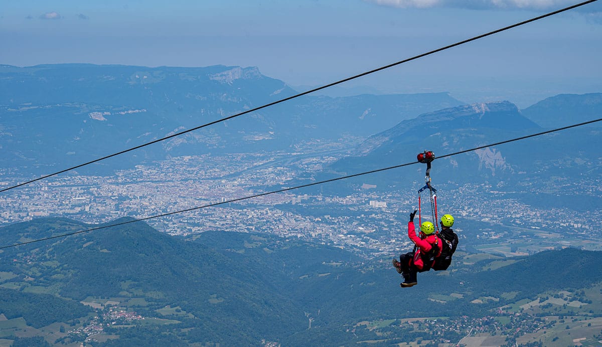
{"label": "entire hazy blue mountain range along the horizon beyond the city", "polygon": [[[295,93],[253,67],[0,66],[0,146],[5,154],[0,164],[28,175],[48,173]],[[425,149],[444,155],[591,120],[602,113],[601,100],[602,93],[561,94],[519,110],[510,102],[463,105],[447,93],[309,95],[79,172],[108,173],[169,156],[276,151],[316,138],[371,135],[350,158],[327,168],[354,173],[411,161]],[[433,174],[444,172],[445,182],[512,181],[526,173],[540,180],[565,172],[593,176],[599,173],[599,128],[593,124],[445,158],[435,162]],[[415,173],[393,176],[402,181]]]}

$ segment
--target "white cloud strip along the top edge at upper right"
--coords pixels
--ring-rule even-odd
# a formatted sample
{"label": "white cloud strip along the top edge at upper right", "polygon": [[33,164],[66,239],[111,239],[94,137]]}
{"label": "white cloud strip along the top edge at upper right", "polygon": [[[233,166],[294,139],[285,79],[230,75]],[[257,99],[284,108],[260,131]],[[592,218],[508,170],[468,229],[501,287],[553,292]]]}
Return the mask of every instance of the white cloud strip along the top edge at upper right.
{"label": "white cloud strip along the top edge at upper right", "polygon": [[[507,10],[552,10],[576,4],[576,0],[364,0],[378,5],[403,8],[456,7],[502,8]],[[589,6],[589,7],[588,7]],[[600,7],[585,5],[582,11],[599,11]]]}

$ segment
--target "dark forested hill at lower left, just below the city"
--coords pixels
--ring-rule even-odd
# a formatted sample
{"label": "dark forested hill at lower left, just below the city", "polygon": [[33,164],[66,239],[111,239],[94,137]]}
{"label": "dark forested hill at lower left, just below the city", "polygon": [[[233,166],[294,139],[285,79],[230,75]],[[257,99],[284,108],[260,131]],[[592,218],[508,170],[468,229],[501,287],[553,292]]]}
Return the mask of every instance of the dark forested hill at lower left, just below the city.
{"label": "dark forested hill at lower left, just below the city", "polygon": [[[20,238],[34,234],[39,237],[48,235],[40,230],[51,227],[55,232],[65,232],[65,222],[49,218],[5,227],[0,233],[7,239],[15,233]],[[71,230],[78,224],[67,221],[66,227]],[[79,229],[84,227],[79,224]],[[223,329],[222,324],[239,325],[241,316],[253,316],[254,320],[245,321],[237,336],[255,339],[293,329],[304,321],[303,313],[294,308],[290,299],[259,281],[249,280],[247,276],[253,277],[253,272],[241,275],[231,259],[203,245],[158,233],[143,223],[103,229],[79,238],[62,238],[52,244],[11,248],[2,254],[4,259],[26,256],[33,256],[37,263],[36,283],[48,288],[58,286],[61,296],[78,301],[88,296],[123,297],[128,301],[143,293],[152,310],[178,302],[208,330],[205,337],[209,339],[211,332]],[[5,263],[2,268],[19,272],[27,271],[29,266],[16,262]],[[56,277],[62,279],[57,283],[53,279]],[[218,298],[219,304],[213,304],[211,298]],[[261,306],[256,302],[262,302]],[[279,321],[282,322],[277,327],[265,324]]]}

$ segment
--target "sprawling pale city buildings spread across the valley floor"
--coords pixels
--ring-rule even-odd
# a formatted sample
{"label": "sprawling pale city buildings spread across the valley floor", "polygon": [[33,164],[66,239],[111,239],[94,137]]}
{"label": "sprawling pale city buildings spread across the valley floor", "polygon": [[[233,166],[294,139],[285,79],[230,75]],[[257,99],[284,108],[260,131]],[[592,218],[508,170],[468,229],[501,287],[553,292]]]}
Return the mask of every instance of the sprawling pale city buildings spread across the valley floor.
{"label": "sprawling pale city buildings spread across the valley floor", "polygon": [[[122,216],[144,218],[206,206],[147,223],[172,235],[208,230],[265,232],[318,239],[371,254],[397,253],[409,246],[406,212],[417,205],[415,189],[377,193],[377,186],[367,179],[361,188],[341,195],[299,189],[237,200],[290,188],[299,184],[293,180],[299,172],[318,172],[322,164],[341,156],[300,153],[183,156],[120,170],[113,176],[59,175],[0,195],[0,226],[43,216],[107,223]],[[19,181],[8,181],[7,173],[0,175],[4,177],[0,188]],[[503,194],[488,185],[438,188],[440,212],[467,220],[585,234],[594,230],[593,221],[602,218],[602,211],[592,216],[591,211],[568,207],[529,206],[498,196]],[[479,238],[496,242],[504,235],[494,229]]]}

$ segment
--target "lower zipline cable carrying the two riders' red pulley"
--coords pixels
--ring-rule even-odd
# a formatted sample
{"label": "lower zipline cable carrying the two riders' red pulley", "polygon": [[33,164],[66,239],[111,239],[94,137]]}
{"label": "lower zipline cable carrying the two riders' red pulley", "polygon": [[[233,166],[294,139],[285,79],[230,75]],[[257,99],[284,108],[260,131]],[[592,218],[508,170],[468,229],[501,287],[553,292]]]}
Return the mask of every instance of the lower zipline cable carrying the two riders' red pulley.
{"label": "lower zipline cable carrying the two riders' red pulley", "polygon": [[[455,152],[455,153],[449,153],[449,154],[446,154],[446,155],[438,156],[438,157],[435,158],[435,160],[436,159],[441,159],[441,158],[446,158],[448,156],[455,156],[455,155],[459,155],[459,154],[462,154],[462,153],[472,152],[472,151],[483,149],[483,148],[487,148],[487,147],[498,146],[500,144],[506,144],[506,143],[510,143],[510,142],[514,142],[514,141],[525,140],[525,139],[531,138],[531,137],[536,137],[536,136],[540,136],[540,135],[550,134],[551,132],[563,131],[563,130],[566,130],[566,129],[570,129],[572,127],[578,127],[578,126],[583,126],[583,125],[586,125],[586,124],[596,123],[597,121],[602,121],[602,118],[598,118],[598,119],[590,120],[590,121],[585,121],[583,123],[573,124],[573,125],[569,125],[569,126],[565,126],[565,127],[559,127],[557,129],[552,129],[552,130],[548,130],[548,131],[544,131],[544,132],[538,132],[537,134],[531,134],[531,135],[526,135],[526,136],[523,136],[523,137],[517,137],[517,138],[513,138],[511,140],[506,140],[506,141],[501,141],[501,142],[497,142],[497,143],[487,144],[485,146],[475,147],[473,149],[467,149],[467,150],[462,150],[462,151]],[[377,169],[377,170],[371,170],[371,171],[366,171],[366,172],[362,172],[362,173],[351,174],[349,176],[337,177],[337,178],[334,178],[334,179],[327,179],[327,180],[318,181],[318,182],[314,182],[314,183],[308,183],[308,184],[305,184],[305,185],[293,186],[293,187],[290,187],[290,188],[283,188],[283,189],[279,189],[277,191],[264,192],[264,193],[261,193],[261,194],[250,195],[250,196],[247,196],[247,197],[241,197],[241,198],[235,198],[235,199],[231,199],[231,200],[226,200],[226,201],[222,201],[222,202],[219,202],[219,203],[211,203],[211,204],[206,204],[206,205],[203,205],[203,206],[191,207],[190,209],[184,209],[184,210],[179,210],[179,211],[174,211],[174,212],[163,213],[161,215],[155,215],[155,216],[149,216],[149,217],[144,217],[144,218],[138,218],[138,219],[134,219],[134,220],[131,220],[131,221],[122,222],[122,223],[109,224],[107,226],[100,226],[100,227],[95,227],[95,228],[91,228],[91,229],[80,230],[79,232],[66,233],[66,234],[61,234],[61,235],[50,236],[48,238],[36,239],[36,240],[26,241],[26,242],[20,242],[19,244],[14,244],[14,245],[8,245],[8,246],[0,247],[0,250],[4,250],[5,248],[17,247],[17,246],[21,246],[21,245],[33,244],[34,242],[46,241],[46,240],[57,239],[57,238],[64,238],[66,236],[71,236],[71,235],[76,235],[76,234],[81,234],[81,233],[92,232],[94,230],[99,230],[99,229],[106,229],[106,228],[110,228],[110,227],[123,226],[124,224],[130,224],[130,223],[135,223],[135,222],[140,222],[140,221],[152,220],[154,218],[160,218],[160,217],[164,217],[164,216],[175,215],[175,214],[178,214],[178,213],[183,213],[183,212],[189,212],[189,211],[193,211],[193,210],[204,209],[204,208],[207,208],[207,207],[218,206],[218,205],[221,205],[221,204],[234,203],[234,202],[237,202],[237,201],[247,200],[247,199],[250,199],[250,198],[262,197],[262,196],[265,196],[265,195],[271,195],[271,194],[276,194],[276,193],[281,193],[281,192],[286,192],[286,191],[292,191],[294,189],[300,189],[300,188],[306,188],[306,187],[309,187],[309,186],[321,185],[321,184],[324,184],[324,183],[335,182],[335,181],[338,181],[338,180],[349,179],[349,178],[352,178],[352,177],[364,176],[364,175],[367,175],[367,174],[373,174],[373,173],[377,173],[377,172],[381,172],[381,171],[391,170],[391,169],[394,169],[394,168],[400,168],[400,167],[405,167],[405,166],[419,164],[419,163],[420,162],[418,162],[418,161],[407,162],[405,164],[395,165],[395,166],[391,166],[391,167],[387,167],[387,168],[380,168],[380,169]]]}

